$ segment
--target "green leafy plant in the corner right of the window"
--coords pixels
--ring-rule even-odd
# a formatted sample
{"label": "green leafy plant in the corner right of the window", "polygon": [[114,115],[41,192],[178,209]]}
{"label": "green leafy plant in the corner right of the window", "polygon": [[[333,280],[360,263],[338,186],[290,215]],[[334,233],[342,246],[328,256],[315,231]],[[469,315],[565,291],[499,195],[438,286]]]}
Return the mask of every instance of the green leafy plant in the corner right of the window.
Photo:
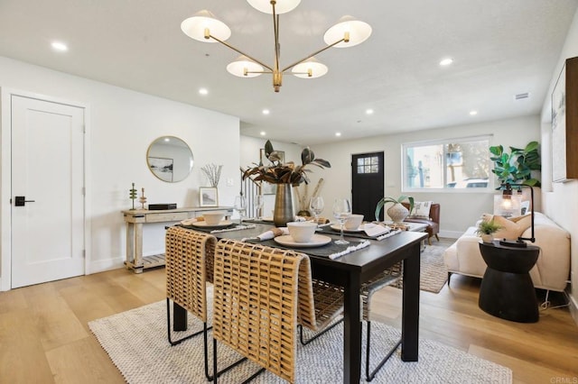
{"label": "green leafy plant in the corner right of the window", "polygon": [[501,184],[525,184],[531,187],[540,187],[540,180],[533,178],[532,171],[542,169],[538,142],[529,142],[526,148],[509,147],[510,152],[504,151],[501,145],[489,147],[494,161],[494,173]]}

